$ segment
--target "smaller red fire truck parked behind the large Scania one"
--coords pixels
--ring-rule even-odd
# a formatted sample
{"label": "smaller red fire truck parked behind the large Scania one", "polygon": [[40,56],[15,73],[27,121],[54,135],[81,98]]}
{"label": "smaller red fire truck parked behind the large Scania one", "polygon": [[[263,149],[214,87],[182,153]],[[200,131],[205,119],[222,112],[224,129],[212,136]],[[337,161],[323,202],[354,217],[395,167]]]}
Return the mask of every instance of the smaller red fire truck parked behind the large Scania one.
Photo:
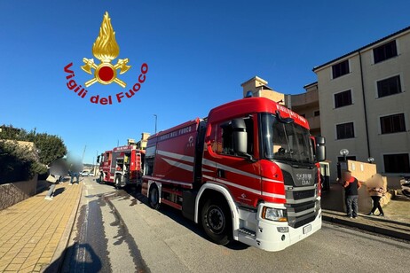
{"label": "smaller red fire truck parked behind the large Scania one", "polygon": [[99,181],[114,183],[116,188],[127,184],[141,184],[145,151],[135,144],[115,147],[102,153],[99,158]]}

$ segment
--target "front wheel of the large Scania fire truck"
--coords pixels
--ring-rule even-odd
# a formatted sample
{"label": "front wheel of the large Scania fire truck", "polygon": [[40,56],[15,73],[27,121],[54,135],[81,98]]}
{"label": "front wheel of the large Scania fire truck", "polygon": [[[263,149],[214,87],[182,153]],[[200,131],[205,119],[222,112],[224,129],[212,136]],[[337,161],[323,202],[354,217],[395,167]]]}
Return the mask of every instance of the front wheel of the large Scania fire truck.
{"label": "front wheel of the large Scania fire truck", "polygon": [[232,233],[232,217],[229,208],[221,200],[208,199],[201,210],[203,230],[218,245],[227,245]]}

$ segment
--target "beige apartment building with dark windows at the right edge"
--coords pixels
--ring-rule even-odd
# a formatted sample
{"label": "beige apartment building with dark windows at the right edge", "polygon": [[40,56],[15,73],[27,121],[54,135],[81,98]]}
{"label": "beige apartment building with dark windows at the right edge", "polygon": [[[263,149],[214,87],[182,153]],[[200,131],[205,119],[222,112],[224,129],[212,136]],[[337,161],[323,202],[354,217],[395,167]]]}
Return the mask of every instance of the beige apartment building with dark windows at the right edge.
{"label": "beige apartment building with dark windows at the right edge", "polygon": [[327,159],[374,158],[385,175],[410,174],[410,27],[313,68]]}

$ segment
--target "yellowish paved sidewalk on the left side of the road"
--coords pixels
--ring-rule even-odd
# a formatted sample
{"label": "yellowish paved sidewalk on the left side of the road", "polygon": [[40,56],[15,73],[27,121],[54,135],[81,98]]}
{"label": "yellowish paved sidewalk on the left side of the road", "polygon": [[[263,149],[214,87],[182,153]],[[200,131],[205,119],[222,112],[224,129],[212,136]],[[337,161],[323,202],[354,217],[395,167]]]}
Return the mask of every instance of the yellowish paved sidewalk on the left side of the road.
{"label": "yellowish paved sidewalk on the left side of the road", "polygon": [[56,185],[0,211],[0,272],[31,272],[56,261],[67,245],[81,197],[82,184]]}

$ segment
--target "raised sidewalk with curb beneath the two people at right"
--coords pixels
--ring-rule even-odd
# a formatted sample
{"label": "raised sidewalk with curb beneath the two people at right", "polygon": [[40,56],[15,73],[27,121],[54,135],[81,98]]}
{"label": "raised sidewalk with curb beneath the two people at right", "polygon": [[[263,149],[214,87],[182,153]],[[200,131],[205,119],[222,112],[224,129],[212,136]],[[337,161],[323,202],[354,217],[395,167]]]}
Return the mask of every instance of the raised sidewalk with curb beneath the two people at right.
{"label": "raised sidewalk with curb beneath the two people at right", "polygon": [[386,207],[383,207],[383,210],[386,217],[359,214],[357,219],[350,219],[345,216],[345,213],[332,210],[322,210],[322,215],[323,221],[410,241],[410,202],[391,200]]}

